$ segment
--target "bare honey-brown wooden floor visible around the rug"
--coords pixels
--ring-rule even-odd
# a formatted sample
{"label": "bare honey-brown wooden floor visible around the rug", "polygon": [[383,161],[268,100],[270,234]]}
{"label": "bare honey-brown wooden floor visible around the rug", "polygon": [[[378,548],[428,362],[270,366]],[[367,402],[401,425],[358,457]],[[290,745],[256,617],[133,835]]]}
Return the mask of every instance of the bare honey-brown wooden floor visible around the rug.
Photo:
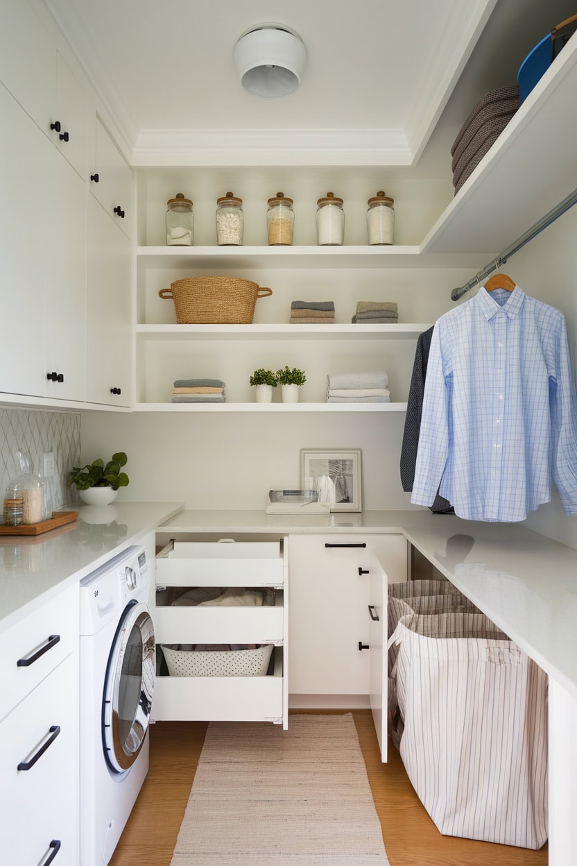
{"label": "bare honey-brown wooden floor visible around the rug", "polygon": [[[390,741],[381,764],[370,711],[352,714],[391,866],[546,866],[547,846],[530,851],[441,836]],[[170,866],[206,729],[205,722],[151,726],[150,772],[110,866]]]}

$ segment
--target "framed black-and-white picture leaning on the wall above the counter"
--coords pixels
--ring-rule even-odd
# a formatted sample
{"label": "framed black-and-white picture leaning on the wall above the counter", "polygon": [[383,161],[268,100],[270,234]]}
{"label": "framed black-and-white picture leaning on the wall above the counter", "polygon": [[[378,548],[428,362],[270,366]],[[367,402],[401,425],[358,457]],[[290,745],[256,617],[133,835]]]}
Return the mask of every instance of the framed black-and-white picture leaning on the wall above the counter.
{"label": "framed black-and-white picture leaning on the wall above the counter", "polygon": [[301,487],[318,490],[331,511],[361,511],[361,450],[302,449]]}

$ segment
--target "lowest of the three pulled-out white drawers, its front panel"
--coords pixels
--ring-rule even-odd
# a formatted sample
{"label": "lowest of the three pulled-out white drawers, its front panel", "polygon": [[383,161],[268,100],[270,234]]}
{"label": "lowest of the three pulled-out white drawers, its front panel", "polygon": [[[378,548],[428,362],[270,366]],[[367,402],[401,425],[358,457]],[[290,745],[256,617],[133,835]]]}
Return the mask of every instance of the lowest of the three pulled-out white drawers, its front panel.
{"label": "lowest of the three pulled-out white drawers, its front panel", "polygon": [[[160,659],[162,650],[158,650]],[[272,673],[266,676],[158,675],[152,719],[272,721],[286,727],[282,647],[275,647],[272,652]]]}

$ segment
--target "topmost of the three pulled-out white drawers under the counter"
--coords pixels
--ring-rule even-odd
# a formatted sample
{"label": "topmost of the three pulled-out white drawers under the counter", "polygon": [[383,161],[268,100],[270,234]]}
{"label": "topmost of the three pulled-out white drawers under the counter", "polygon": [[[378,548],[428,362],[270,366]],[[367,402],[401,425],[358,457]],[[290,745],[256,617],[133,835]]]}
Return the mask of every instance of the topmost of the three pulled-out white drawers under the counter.
{"label": "topmost of the three pulled-out white drawers under the counter", "polygon": [[282,541],[171,541],[157,554],[157,586],[282,586]]}

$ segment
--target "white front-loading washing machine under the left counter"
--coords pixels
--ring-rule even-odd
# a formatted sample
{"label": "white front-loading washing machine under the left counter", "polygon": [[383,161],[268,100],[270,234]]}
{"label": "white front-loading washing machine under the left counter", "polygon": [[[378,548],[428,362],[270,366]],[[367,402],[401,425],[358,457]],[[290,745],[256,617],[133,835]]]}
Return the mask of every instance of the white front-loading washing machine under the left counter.
{"label": "white front-loading washing machine under the left counter", "polygon": [[80,866],[106,866],[148,772],[155,638],[144,547],[80,581]]}

